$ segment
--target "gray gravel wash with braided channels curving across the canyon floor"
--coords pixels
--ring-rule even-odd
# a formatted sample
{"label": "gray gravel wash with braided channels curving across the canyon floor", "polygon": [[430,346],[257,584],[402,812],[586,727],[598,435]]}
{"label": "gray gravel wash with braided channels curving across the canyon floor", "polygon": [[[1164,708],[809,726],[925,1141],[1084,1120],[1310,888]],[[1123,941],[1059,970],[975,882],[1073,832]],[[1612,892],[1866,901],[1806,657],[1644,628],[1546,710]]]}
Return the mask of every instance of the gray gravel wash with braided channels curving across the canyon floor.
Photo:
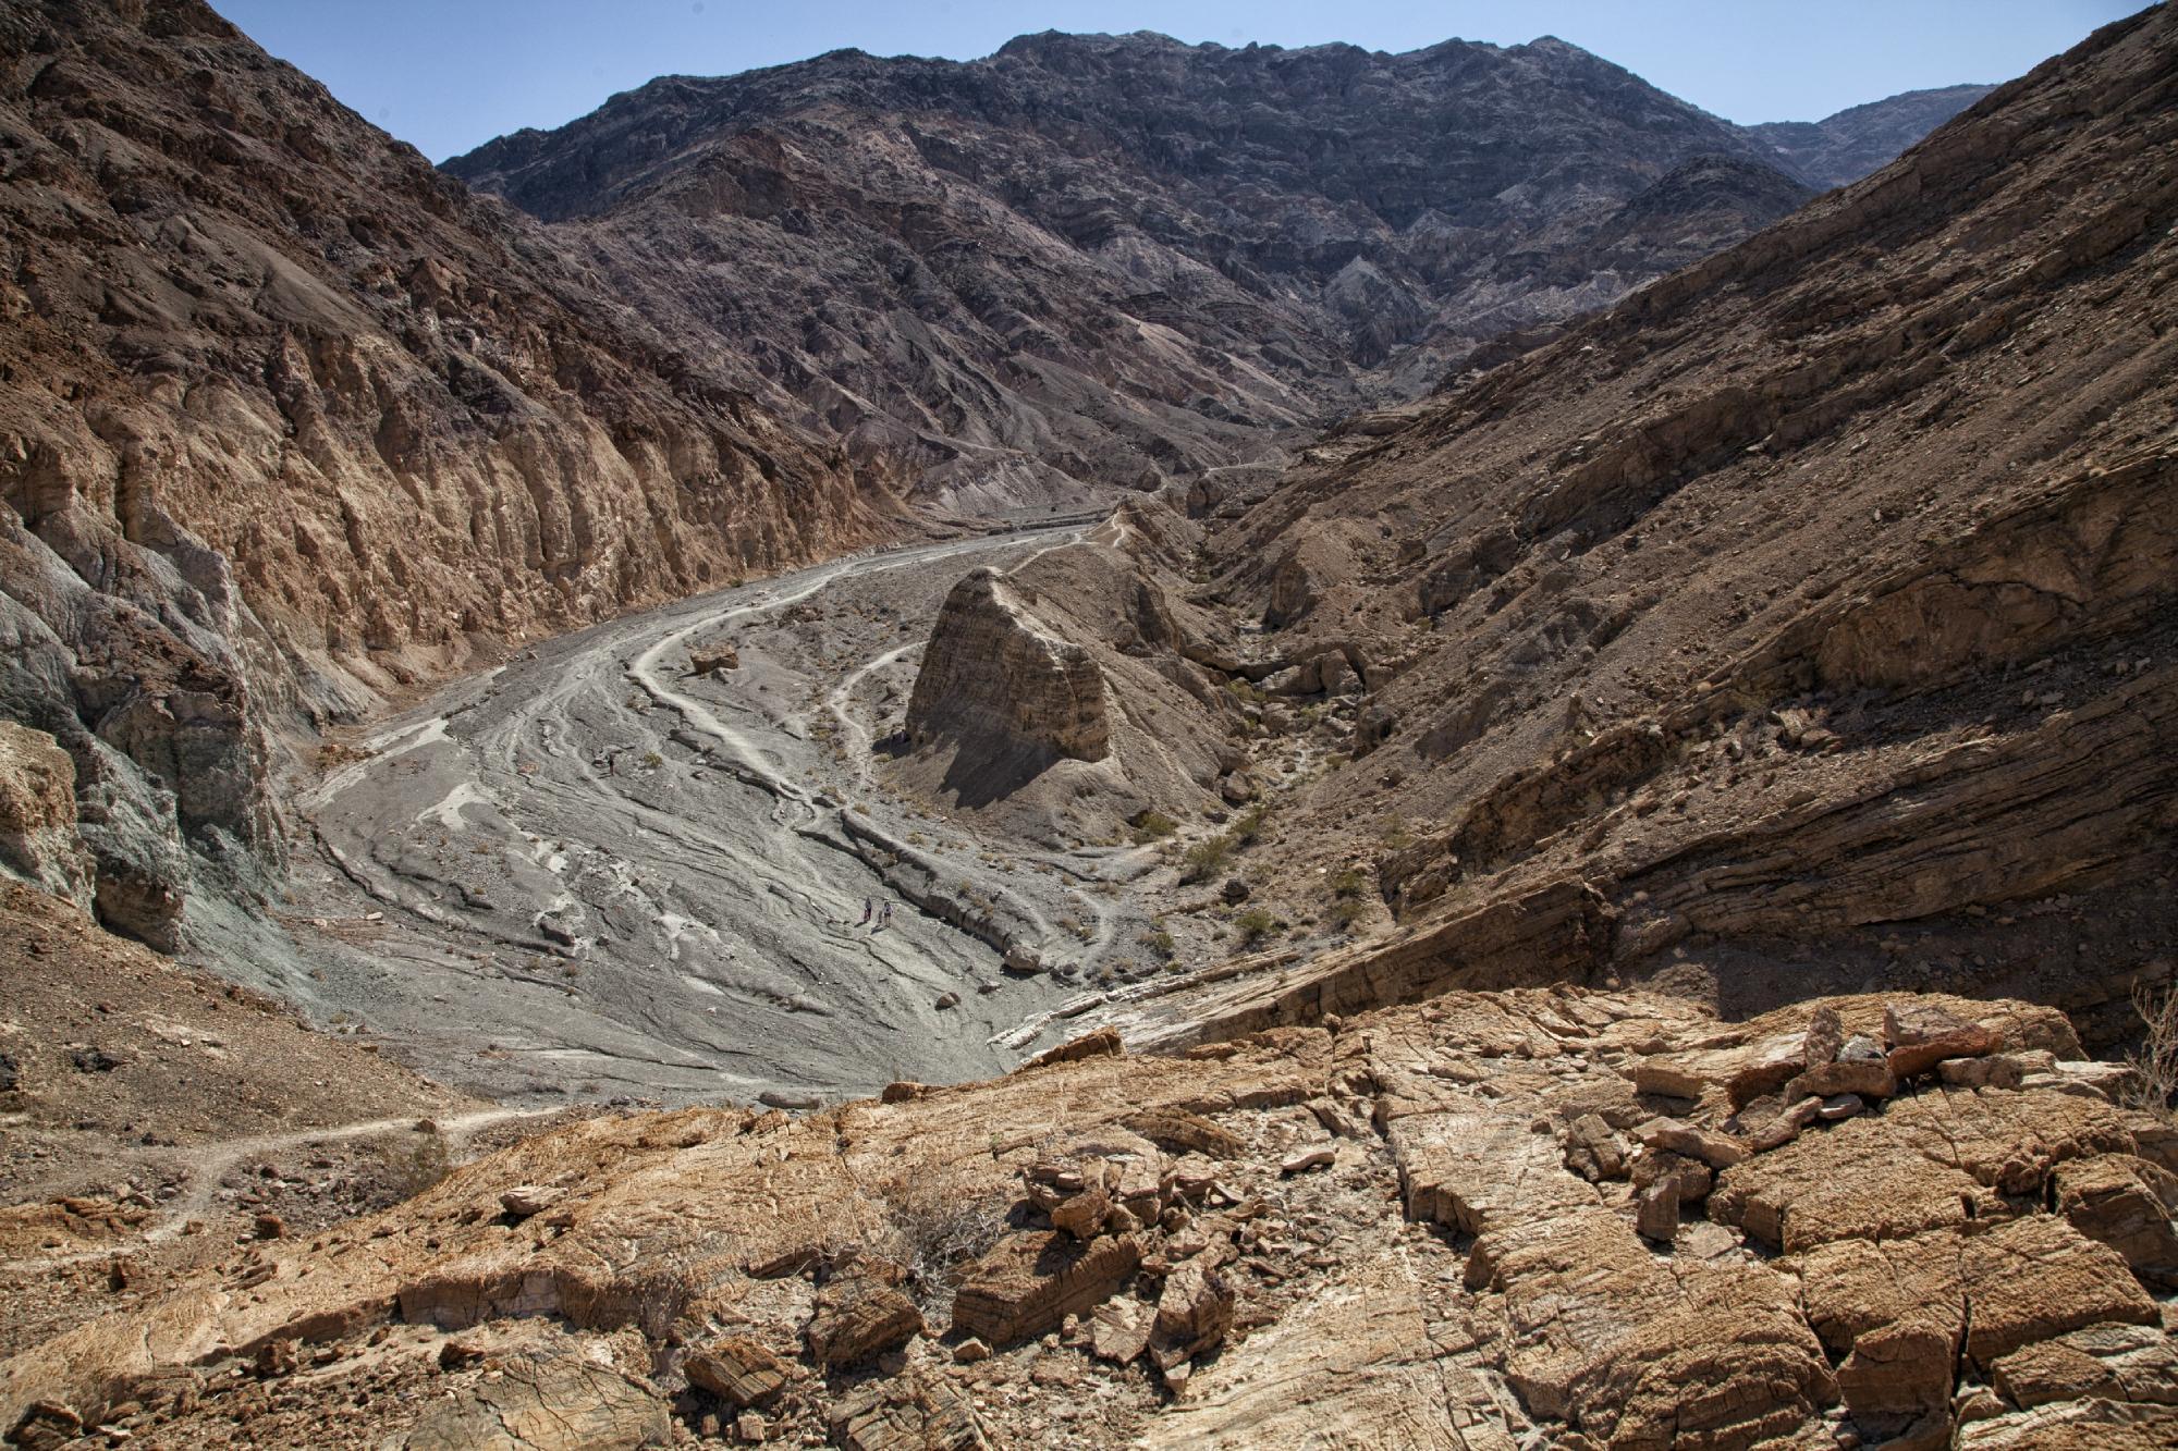
{"label": "gray gravel wash with braided channels curving across the canyon floor", "polygon": [[[836,560],[551,641],[386,721],[303,802],[318,1015],[486,1094],[784,1107],[989,1076],[1080,1033],[1139,930],[1098,882],[1126,863],[989,852],[893,800],[869,754],[943,588],[1065,538]],[[782,619],[849,582],[897,606],[867,630],[867,603]],[[714,638],[741,669],[690,678]],[[891,924],[862,926],[865,900]],[[1002,948],[1067,976],[1004,972]]]}

